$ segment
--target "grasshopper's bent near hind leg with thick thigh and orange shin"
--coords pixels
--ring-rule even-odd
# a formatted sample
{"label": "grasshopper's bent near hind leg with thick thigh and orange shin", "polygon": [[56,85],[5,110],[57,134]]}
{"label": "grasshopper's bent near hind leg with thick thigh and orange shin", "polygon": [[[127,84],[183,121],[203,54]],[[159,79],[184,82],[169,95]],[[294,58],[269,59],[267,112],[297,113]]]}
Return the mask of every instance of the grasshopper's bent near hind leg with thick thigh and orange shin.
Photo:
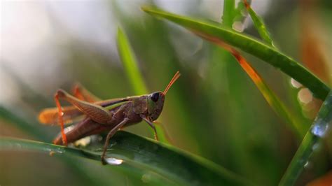
{"label": "grasshopper's bent near hind leg with thick thigh and orange shin", "polygon": [[67,137],[66,134],[64,134],[64,120],[62,118],[62,107],[60,104],[60,99],[64,99],[66,101],[69,101],[69,103],[73,104],[76,108],[81,110],[82,113],[87,115],[91,118],[91,120],[94,120],[95,122],[98,122],[100,124],[107,124],[111,121],[113,114],[109,112],[109,110],[106,110],[102,106],[98,106],[92,103],[88,103],[86,101],[81,101],[80,99],[77,99],[74,96],[71,96],[64,90],[58,90],[57,93],[54,96],[55,103],[57,105],[58,110],[58,120],[61,127],[61,134],[62,134],[62,142],[64,145],[67,145]]}

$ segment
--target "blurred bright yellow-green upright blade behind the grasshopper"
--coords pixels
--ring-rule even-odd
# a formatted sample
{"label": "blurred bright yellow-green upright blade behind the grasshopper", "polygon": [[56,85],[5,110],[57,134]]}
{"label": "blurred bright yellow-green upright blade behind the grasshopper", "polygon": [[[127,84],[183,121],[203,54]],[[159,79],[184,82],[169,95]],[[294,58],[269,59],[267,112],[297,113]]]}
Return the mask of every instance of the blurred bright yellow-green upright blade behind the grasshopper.
{"label": "blurred bright yellow-green upright blade behind the grasshopper", "polygon": [[[123,66],[125,67],[126,74],[130,79],[130,83],[134,88],[135,94],[138,95],[147,94],[148,88],[144,83],[141,73],[139,73],[139,68],[137,66],[137,62],[134,57],[134,52],[132,52],[132,49],[130,48],[127,36],[125,36],[125,34],[120,28],[118,28],[117,41],[118,41],[118,52],[122,59],[121,61],[123,62]],[[162,122],[160,121],[160,123]],[[162,129],[161,124],[156,125],[155,129],[157,129],[159,140],[164,143],[169,143],[167,141],[165,130]]]}

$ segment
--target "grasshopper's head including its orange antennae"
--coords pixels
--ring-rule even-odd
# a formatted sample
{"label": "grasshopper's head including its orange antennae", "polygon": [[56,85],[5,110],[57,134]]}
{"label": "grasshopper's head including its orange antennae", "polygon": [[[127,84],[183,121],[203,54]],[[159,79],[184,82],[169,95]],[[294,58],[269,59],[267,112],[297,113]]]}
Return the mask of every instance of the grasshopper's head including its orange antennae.
{"label": "grasshopper's head including its orange antennae", "polygon": [[159,117],[162,107],[164,106],[165,95],[179,77],[180,73],[177,71],[164,92],[153,92],[148,95],[148,117],[150,117],[152,121],[157,120]]}

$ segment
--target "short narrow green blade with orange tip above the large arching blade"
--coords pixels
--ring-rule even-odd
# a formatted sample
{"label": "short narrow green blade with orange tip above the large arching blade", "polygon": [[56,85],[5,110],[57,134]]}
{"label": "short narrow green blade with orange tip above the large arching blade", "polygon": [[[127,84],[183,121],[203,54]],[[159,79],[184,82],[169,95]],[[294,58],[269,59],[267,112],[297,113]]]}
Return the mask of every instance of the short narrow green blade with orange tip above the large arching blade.
{"label": "short narrow green blade with orange tip above the large arching blade", "polygon": [[256,27],[258,34],[263,38],[263,40],[271,45],[272,47],[275,47],[272,43],[272,38],[270,37],[270,33],[268,29],[265,27],[265,23],[263,19],[256,14],[256,12],[251,8],[250,4],[247,2],[247,0],[244,0],[244,6],[247,8],[248,13],[251,17],[252,22],[254,22],[254,26]]}

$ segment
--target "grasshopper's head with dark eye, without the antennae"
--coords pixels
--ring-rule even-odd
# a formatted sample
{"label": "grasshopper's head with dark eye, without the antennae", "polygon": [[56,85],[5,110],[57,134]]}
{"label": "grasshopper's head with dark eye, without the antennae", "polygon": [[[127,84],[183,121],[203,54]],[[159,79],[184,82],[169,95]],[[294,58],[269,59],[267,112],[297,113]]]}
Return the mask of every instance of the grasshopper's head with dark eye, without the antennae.
{"label": "grasshopper's head with dark eye, without the antennae", "polygon": [[148,117],[150,117],[152,121],[157,120],[164,106],[165,94],[162,92],[153,92],[148,94],[147,100]]}

